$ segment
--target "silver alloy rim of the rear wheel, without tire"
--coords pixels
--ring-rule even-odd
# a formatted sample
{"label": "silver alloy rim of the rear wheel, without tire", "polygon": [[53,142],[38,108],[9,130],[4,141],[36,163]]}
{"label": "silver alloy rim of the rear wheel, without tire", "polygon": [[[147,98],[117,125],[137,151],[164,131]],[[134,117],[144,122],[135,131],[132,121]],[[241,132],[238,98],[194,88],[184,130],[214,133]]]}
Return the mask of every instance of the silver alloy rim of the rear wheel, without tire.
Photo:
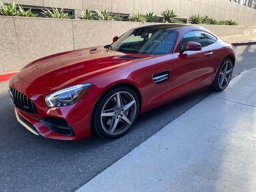
{"label": "silver alloy rim of the rear wheel, without tire", "polygon": [[233,66],[230,61],[226,61],[222,68],[220,69],[219,74],[219,86],[221,89],[224,89],[228,86],[233,72]]}

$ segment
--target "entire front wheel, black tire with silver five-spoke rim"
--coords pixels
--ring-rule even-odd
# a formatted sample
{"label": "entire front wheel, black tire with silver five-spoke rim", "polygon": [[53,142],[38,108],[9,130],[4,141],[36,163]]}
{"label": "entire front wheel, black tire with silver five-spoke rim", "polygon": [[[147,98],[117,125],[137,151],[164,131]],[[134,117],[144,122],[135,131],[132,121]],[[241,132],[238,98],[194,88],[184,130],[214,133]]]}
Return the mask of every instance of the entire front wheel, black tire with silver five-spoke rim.
{"label": "entire front wheel, black tire with silver five-spoke rim", "polygon": [[[119,105],[117,97],[120,98]],[[131,88],[116,87],[106,92],[96,104],[92,127],[103,138],[120,138],[132,128],[138,113],[136,92]]]}

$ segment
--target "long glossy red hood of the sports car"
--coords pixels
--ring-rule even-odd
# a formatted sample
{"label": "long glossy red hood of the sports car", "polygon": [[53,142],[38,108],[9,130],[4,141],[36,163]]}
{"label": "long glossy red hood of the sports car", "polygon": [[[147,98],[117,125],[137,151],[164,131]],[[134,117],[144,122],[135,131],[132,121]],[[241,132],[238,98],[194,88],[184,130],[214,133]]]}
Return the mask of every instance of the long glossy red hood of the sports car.
{"label": "long glossy red hood of the sports car", "polygon": [[82,83],[97,73],[102,74],[147,57],[149,55],[126,54],[104,47],[72,50],[35,60],[18,72],[18,76],[30,84],[54,90]]}

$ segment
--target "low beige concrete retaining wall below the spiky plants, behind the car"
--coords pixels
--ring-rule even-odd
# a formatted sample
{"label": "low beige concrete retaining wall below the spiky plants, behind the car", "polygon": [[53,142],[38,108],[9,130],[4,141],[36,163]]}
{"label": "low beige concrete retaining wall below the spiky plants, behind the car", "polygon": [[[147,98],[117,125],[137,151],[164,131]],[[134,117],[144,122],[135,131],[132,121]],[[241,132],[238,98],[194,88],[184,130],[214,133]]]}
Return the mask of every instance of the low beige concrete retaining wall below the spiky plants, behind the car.
{"label": "low beige concrete retaining wall below the spiky plants, behind the car", "polygon": [[[0,73],[20,70],[30,61],[50,54],[110,44],[114,36],[150,24],[0,16]],[[244,26],[199,26],[218,36],[241,34],[244,30]]]}

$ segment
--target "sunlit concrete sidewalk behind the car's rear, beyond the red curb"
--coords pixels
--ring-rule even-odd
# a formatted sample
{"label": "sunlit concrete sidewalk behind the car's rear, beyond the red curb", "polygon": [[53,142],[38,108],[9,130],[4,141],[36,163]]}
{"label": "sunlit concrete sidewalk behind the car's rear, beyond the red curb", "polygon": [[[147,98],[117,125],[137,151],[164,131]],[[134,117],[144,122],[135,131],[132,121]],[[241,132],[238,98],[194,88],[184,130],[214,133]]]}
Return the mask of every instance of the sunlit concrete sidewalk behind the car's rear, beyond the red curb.
{"label": "sunlit concrete sidewalk behind the car's rear, beyond the red curb", "polygon": [[256,25],[244,28],[243,34],[220,36],[220,38],[228,43],[256,41]]}

